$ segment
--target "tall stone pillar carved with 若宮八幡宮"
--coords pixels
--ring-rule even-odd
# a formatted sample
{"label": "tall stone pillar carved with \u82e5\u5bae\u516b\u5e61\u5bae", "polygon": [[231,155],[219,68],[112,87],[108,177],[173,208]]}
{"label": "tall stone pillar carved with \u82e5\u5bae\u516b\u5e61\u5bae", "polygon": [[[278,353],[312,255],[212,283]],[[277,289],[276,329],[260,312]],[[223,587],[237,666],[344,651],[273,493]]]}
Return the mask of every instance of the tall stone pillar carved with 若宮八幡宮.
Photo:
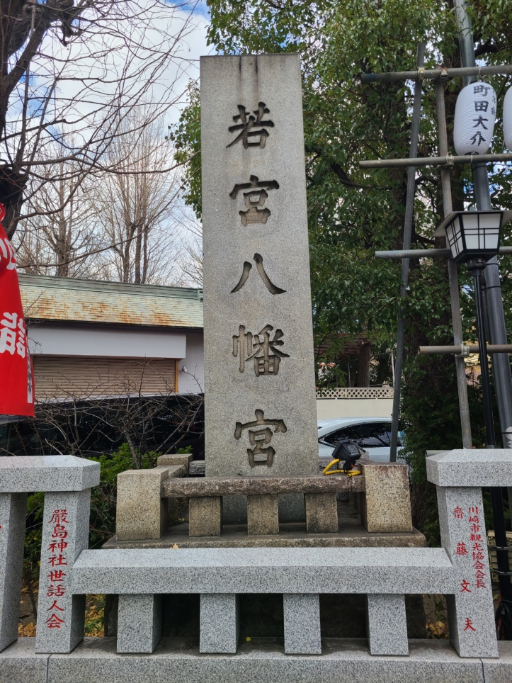
{"label": "tall stone pillar carved with \u82e5\u5bae\u516b\u5e61\u5bae", "polygon": [[201,57],[206,476],[318,471],[298,55]]}

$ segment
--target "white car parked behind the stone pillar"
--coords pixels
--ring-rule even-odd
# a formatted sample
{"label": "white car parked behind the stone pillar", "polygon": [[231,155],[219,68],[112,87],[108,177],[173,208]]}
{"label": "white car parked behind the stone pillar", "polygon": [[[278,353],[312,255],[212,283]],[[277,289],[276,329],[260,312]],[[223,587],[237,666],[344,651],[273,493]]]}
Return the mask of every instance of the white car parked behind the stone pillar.
{"label": "white car parked behind the stone pillar", "polygon": [[[398,433],[397,458],[402,451]],[[389,462],[389,439],[391,439],[391,419],[389,417],[333,417],[318,421],[319,458],[331,458],[339,439],[355,439],[358,446],[368,451],[370,460],[377,463]]]}

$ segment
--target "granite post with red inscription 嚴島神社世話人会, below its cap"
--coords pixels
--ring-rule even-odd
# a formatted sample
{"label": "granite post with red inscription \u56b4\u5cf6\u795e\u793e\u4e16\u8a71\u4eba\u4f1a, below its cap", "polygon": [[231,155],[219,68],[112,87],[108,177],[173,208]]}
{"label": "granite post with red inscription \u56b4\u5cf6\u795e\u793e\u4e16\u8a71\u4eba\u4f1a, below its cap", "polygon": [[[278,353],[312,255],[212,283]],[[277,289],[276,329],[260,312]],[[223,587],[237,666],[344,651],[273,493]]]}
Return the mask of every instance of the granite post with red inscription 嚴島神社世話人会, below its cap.
{"label": "granite post with red inscription \u56b4\u5cf6\u795e\u793e\u4e16\u8a71\u4eba\u4f1a, below its cap", "polygon": [[45,495],[36,653],[69,653],[84,638],[85,595],[72,594],[76,558],[88,546],[91,489]]}

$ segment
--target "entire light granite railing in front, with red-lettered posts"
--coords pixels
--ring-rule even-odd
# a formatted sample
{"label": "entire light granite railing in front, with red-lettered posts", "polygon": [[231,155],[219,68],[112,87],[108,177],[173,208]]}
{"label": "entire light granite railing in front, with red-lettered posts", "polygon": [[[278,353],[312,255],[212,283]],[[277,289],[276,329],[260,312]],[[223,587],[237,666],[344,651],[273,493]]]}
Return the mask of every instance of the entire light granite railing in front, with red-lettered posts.
{"label": "entire light granite railing in front, with red-lettered posts", "polygon": [[[421,662],[424,665],[428,660],[438,672],[434,677],[428,674],[429,680],[482,681],[482,665],[491,667],[488,660],[499,657],[482,486],[512,485],[512,451],[441,453],[428,458],[427,473],[437,487],[442,548],[89,551],[89,496],[91,486],[99,480],[99,465],[71,456],[0,458],[0,647],[4,650],[0,672],[10,682],[25,681],[30,663],[32,672],[34,667],[42,671],[30,680],[108,683],[129,677],[142,683],[165,679],[162,672],[171,667],[173,680],[184,679],[179,673],[183,671],[190,673],[186,678],[194,682],[231,679],[229,663],[224,663],[228,669],[222,674],[219,660],[202,660],[201,653],[238,653],[238,596],[278,593],[283,594],[285,619],[282,656],[314,655],[315,667],[320,667],[324,679],[339,680],[343,678],[341,672],[356,672],[350,679],[362,681],[364,677],[352,662],[356,657],[366,680],[414,681],[424,672]],[[26,495],[33,491],[45,491],[37,636],[22,638],[8,647],[17,636]],[[341,647],[334,656],[327,644],[326,655],[320,654],[319,594],[326,591],[366,596],[370,655],[355,655],[350,647]],[[85,595],[118,594],[118,653],[152,653],[161,634],[161,596],[168,593],[200,594],[197,655],[178,648],[165,656],[155,653],[152,657],[156,659],[127,660],[125,666],[115,659],[111,645],[103,648],[101,638],[89,639],[96,645],[84,645],[85,649],[79,645],[84,636]],[[431,648],[428,653],[422,650],[420,656],[416,645],[408,641],[404,595],[425,593],[447,596],[450,638],[459,657],[469,658],[465,669],[457,667],[453,650],[450,654],[440,645],[441,649]],[[35,648],[28,643],[34,640]],[[45,658],[45,653],[52,657]],[[63,654],[57,657],[57,653]],[[268,680],[319,679],[314,674],[304,677],[306,663],[299,666],[297,660],[290,660],[290,669],[283,663],[277,671],[273,668],[275,657],[281,661],[281,655],[270,650],[266,654],[265,648],[256,654],[256,659],[265,660],[270,667]],[[375,655],[408,654],[410,667],[397,669],[394,660],[378,657],[377,668],[370,662]],[[243,653],[240,656],[245,657]],[[368,656],[370,660],[365,659]],[[102,657],[111,662],[110,679],[102,667]],[[482,661],[475,660],[478,657]],[[243,667],[237,668],[237,661],[233,660],[231,673],[242,675]],[[260,680],[245,661],[249,668],[244,680]],[[510,680],[512,658],[505,659],[503,666],[499,677],[489,680]],[[210,667],[206,677],[203,667]],[[264,677],[267,670],[258,671]]]}

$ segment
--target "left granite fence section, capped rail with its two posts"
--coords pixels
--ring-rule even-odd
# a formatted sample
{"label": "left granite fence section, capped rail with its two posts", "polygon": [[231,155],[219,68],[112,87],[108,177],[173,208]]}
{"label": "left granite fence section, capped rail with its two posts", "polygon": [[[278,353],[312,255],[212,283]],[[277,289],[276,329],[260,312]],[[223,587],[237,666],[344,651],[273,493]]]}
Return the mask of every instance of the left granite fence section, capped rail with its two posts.
{"label": "left granite fence section, capped rail with its two posts", "polygon": [[72,567],[87,548],[91,486],[100,465],[74,456],[0,458],[0,651],[18,637],[27,494],[45,492],[38,653],[68,653],[84,636],[84,596],[72,596]]}

